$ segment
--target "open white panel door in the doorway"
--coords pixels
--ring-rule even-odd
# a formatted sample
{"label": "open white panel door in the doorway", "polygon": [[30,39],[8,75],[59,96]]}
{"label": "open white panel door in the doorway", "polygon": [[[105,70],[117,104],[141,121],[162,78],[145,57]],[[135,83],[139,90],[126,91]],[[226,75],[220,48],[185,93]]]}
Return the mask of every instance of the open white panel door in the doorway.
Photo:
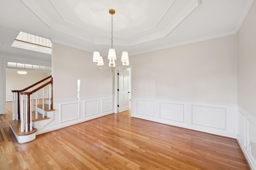
{"label": "open white panel door in the doorway", "polygon": [[118,112],[129,109],[129,72],[119,72],[118,75]]}

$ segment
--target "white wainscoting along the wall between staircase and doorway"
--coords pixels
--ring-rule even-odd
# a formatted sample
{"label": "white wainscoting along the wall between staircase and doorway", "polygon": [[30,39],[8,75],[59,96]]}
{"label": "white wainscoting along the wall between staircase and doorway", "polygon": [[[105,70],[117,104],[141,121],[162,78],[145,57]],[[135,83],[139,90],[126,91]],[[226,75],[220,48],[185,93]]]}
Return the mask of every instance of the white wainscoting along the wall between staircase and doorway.
{"label": "white wainscoting along the wall between staircase and doorway", "polygon": [[114,113],[114,96],[97,96],[54,101],[54,116],[36,135]]}

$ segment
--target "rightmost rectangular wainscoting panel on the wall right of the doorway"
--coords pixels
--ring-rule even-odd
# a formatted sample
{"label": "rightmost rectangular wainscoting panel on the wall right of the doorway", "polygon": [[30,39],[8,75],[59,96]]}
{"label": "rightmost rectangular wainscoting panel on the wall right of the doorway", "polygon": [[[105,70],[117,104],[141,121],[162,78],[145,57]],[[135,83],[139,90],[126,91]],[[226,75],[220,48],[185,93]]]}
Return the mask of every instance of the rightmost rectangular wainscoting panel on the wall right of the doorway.
{"label": "rightmost rectangular wainscoting panel on the wall right of the doorway", "polygon": [[226,109],[192,106],[192,124],[226,130]]}

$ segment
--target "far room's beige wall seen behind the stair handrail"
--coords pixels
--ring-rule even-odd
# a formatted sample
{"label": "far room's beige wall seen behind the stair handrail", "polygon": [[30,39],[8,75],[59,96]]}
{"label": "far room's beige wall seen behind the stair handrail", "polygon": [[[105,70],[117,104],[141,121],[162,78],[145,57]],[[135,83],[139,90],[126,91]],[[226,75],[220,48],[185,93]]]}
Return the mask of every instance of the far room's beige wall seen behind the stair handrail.
{"label": "far room's beige wall seen behind the stair handrail", "polygon": [[6,102],[12,101],[12,90],[22,90],[51,75],[51,72],[26,70],[27,74],[18,74],[17,71],[6,69]]}

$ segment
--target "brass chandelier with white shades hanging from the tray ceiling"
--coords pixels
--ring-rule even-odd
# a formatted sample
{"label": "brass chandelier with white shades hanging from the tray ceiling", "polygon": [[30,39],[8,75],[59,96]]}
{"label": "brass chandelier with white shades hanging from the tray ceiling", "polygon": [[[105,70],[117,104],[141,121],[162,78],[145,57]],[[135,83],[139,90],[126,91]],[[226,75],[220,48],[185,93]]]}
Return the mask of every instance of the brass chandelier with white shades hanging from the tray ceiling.
{"label": "brass chandelier with white shades hanging from the tray ceiling", "polygon": [[96,62],[97,68],[102,72],[105,72],[105,71],[109,70],[110,68],[111,68],[112,72],[113,72],[113,68],[118,70],[118,71],[123,72],[123,71],[126,70],[126,66],[129,65],[128,52],[124,51],[124,52],[122,52],[122,58],[121,58],[122,64],[124,65],[124,68],[118,69],[118,68],[115,67],[116,66],[116,64],[115,64],[116,51],[115,51],[115,49],[113,49],[113,15],[115,13],[116,13],[115,10],[113,10],[113,9],[109,10],[109,14],[111,14],[111,49],[109,49],[109,51],[108,51],[108,60],[109,60],[108,66],[109,67],[102,69],[101,66],[104,65],[104,63],[103,63],[102,57],[100,56],[100,53],[98,51],[95,51],[93,53],[92,61]]}

